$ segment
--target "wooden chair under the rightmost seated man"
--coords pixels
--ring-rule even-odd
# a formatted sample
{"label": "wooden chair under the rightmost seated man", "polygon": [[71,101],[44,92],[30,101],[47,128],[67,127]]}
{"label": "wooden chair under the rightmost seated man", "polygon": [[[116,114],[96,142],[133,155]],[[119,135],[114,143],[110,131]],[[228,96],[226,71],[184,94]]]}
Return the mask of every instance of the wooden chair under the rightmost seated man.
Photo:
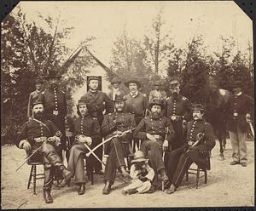
{"label": "wooden chair under the rightmost seated man", "polygon": [[[198,165],[196,165],[196,168],[189,168],[186,172],[186,181],[189,180],[189,174],[195,174],[196,175],[196,189],[198,189],[199,179],[201,177],[205,178],[205,184],[207,184],[207,170],[211,170],[211,163],[210,163],[210,157],[211,157],[211,151],[207,151],[207,168],[201,169]],[[200,173],[204,173],[202,176],[200,176]]]}

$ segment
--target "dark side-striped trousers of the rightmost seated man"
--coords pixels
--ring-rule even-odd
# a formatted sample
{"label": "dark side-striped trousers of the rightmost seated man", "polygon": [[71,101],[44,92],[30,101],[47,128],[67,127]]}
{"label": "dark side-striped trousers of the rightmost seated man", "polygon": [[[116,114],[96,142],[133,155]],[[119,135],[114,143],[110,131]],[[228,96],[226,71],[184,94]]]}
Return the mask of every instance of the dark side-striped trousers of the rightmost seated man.
{"label": "dark side-striped trousers of the rightmost seated man", "polygon": [[175,185],[176,188],[180,185],[186,171],[192,163],[196,163],[202,169],[207,168],[207,158],[202,155],[200,151],[190,150],[188,152],[183,152],[178,159],[177,168],[175,169],[171,180],[171,183]]}

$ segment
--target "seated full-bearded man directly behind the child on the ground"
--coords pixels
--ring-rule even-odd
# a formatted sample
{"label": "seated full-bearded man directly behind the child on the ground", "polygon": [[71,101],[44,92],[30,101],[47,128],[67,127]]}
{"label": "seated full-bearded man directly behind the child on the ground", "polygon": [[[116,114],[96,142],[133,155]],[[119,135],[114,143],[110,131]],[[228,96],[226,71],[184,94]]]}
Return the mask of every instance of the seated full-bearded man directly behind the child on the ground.
{"label": "seated full-bearded man directly behind the child on the ground", "polygon": [[168,180],[162,158],[163,147],[166,151],[166,147],[171,144],[175,132],[170,120],[161,115],[161,111],[164,109],[162,100],[153,100],[148,107],[150,114],[137,125],[134,137],[143,140],[140,150],[148,157],[149,164],[154,169],[155,177],[149,190],[151,193],[156,190],[158,173],[161,174],[164,182]]}

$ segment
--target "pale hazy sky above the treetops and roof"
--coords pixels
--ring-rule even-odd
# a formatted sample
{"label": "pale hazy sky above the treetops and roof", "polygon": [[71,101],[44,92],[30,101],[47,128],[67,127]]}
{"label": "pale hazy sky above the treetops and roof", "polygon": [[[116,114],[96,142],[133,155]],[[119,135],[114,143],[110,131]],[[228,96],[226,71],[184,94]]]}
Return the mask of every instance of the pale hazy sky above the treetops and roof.
{"label": "pale hazy sky above the treetops and roof", "polygon": [[[64,41],[68,48],[77,48],[85,37],[95,36],[91,51],[107,65],[116,37],[125,29],[130,37],[142,40],[150,33],[152,19],[163,10],[165,25],[172,43],[186,48],[192,38],[203,35],[207,54],[221,50],[219,37],[235,37],[241,51],[248,41],[253,43],[253,21],[233,1],[170,1],[170,2],[20,2],[27,20],[45,26],[38,14],[60,17],[61,26],[73,26]],[[16,9],[14,10],[14,12]],[[49,30],[45,28],[45,30]],[[54,33],[54,31],[49,31]]]}

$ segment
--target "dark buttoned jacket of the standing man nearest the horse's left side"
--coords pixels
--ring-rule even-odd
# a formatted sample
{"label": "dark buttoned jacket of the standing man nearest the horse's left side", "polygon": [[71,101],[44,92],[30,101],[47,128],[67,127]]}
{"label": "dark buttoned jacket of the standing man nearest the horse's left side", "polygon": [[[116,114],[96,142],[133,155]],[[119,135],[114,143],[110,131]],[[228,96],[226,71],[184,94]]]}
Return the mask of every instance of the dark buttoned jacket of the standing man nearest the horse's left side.
{"label": "dark buttoned jacket of the standing man nearest the horse's left side", "polygon": [[177,100],[171,95],[166,100],[166,117],[180,116],[184,117],[186,121],[189,121],[192,118],[191,114],[192,104],[189,99],[183,97],[182,95],[177,95]]}

